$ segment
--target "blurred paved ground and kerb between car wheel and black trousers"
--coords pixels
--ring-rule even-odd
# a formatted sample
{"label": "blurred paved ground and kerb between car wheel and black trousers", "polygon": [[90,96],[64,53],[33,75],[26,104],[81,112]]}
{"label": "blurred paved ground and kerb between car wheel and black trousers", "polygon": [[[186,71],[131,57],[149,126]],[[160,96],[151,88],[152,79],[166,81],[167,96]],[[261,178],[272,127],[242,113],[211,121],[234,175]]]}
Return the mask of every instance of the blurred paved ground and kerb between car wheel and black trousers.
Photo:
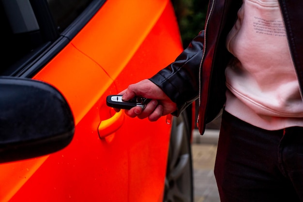
{"label": "blurred paved ground and kerb between car wheel and black trousers", "polygon": [[203,136],[194,133],[192,144],[194,169],[194,202],[220,202],[213,175],[218,130],[207,130]]}

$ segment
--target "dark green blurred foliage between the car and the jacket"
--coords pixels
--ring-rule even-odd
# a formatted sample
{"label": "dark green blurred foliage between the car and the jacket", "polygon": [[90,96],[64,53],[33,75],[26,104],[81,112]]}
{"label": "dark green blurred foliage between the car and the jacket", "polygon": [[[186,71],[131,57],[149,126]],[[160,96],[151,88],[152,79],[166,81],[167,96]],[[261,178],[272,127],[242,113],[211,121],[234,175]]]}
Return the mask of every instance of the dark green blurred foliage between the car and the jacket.
{"label": "dark green blurred foliage between the car and the jacket", "polygon": [[171,0],[182,37],[183,47],[204,29],[208,0]]}

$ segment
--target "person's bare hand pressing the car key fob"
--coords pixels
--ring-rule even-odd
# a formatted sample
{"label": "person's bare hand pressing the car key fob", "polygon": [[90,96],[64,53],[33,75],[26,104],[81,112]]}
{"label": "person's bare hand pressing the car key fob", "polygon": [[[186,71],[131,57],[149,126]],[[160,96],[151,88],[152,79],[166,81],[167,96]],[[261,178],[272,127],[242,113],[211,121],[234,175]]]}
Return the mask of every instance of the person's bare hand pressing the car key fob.
{"label": "person's bare hand pressing the car key fob", "polygon": [[[130,100],[135,96],[141,96],[152,99],[145,107],[134,107],[125,110],[125,114],[139,119],[148,118],[150,121],[157,121],[161,116],[165,116],[177,110],[177,105],[152,81],[144,79],[138,83],[131,84],[122,91],[122,99]],[[119,111],[120,109],[116,109]]]}

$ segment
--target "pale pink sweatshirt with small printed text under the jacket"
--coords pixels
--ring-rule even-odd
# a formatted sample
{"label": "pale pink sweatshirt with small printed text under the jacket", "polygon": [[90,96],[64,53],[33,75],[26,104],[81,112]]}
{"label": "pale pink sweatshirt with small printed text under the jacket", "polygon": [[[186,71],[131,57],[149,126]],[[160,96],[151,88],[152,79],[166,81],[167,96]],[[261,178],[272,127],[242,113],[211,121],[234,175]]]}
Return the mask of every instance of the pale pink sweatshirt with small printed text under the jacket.
{"label": "pale pink sweatshirt with small printed text under the jacket", "polygon": [[303,126],[303,101],[277,0],[243,0],[227,36],[225,109],[267,130]]}

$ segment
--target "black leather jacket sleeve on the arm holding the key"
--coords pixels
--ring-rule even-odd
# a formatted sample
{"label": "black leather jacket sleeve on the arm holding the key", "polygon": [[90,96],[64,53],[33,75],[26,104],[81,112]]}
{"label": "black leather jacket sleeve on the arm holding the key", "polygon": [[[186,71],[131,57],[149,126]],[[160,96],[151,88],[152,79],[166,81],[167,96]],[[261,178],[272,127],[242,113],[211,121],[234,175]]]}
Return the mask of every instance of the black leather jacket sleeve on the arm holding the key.
{"label": "black leather jacket sleeve on the arm holding the key", "polygon": [[203,44],[204,31],[200,31],[174,62],[150,78],[177,104],[178,110],[172,113],[175,116],[179,116],[198,97]]}

